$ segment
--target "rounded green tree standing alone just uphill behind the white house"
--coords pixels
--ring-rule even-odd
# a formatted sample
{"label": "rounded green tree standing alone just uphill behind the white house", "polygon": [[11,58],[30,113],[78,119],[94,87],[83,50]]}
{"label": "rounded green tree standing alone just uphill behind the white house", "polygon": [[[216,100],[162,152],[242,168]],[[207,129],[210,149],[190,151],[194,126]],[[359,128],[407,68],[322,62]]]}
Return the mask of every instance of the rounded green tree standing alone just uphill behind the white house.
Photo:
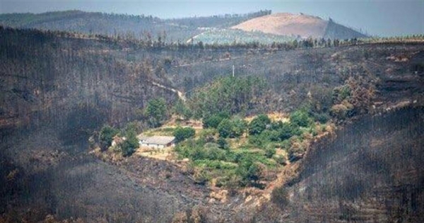
{"label": "rounded green tree standing alone just uphill behind the white house", "polygon": [[148,101],[144,115],[148,118],[151,127],[159,127],[167,119],[166,101],[163,98],[155,98]]}

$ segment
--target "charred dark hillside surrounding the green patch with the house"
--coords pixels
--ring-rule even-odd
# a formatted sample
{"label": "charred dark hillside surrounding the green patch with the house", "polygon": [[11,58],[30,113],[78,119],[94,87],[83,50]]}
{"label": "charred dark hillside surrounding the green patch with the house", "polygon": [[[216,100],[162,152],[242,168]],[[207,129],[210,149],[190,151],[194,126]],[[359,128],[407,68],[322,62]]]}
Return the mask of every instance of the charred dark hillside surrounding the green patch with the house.
{"label": "charred dark hillside surrounding the green patch with the house", "polygon": [[[140,45],[0,28],[0,222],[43,222],[49,215],[84,222],[184,222],[178,219],[185,216],[185,222],[418,223],[423,217],[422,41],[292,50]],[[253,77],[237,89],[228,82],[231,90],[253,89],[245,101],[211,84],[230,76],[232,65],[237,78]],[[264,87],[246,88],[258,79]],[[219,91],[201,95],[208,88]],[[355,107],[331,114],[341,128],[294,163],[298,176],[280,179],[293,195],[288,204],[267,200],[273,184],[228,190],[221,202],[223,188],[195,181],[190,166],[139,156],[112,164],[89,154],[96,140],[90,136],[103,125],[135,120],[145,130],[151,99],[164,98],[171,110],[178,96],[169,89],[186,93],[187,101],[196,93],[208,99],[196,107],[237,115],[290,113],[305,103],[320,113]],[[225,97],[232,103],[222,103]]]}

